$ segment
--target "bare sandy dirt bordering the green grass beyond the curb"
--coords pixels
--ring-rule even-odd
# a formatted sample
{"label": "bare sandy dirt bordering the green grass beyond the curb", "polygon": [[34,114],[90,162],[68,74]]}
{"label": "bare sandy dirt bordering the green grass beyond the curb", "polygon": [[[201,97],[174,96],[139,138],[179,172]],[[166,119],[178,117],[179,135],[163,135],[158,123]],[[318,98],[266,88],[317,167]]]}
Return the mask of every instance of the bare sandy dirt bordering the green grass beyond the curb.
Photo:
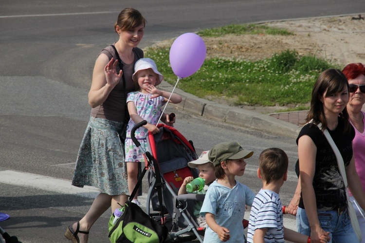
{"label": "bare sandy dirt bordering the green grass beyond the curb", "polygon": [[[363,15],[365,17],[365,14]],[[365,20],[360,16],[312,18],[301,20],[274,21],[264,25],[283,28],[294,33],[292,36],[270,35],[226,35],[203,37],[207,57],[224,56],[257,60],[271,57],[274,53],[295,49],[299,55],[315,55],[345,66],[365,60]],[[167,40],[157,45],[171,45]],[[223,99],[221,103],[229,103]],[[242,108],[262,113],[280,111],[287,107]]]}

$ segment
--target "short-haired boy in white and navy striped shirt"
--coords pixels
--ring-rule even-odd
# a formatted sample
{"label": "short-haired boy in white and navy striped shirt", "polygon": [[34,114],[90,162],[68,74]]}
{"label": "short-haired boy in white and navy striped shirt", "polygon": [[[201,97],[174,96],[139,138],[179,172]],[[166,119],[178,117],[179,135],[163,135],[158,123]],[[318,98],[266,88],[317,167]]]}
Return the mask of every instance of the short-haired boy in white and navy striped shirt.
{"label": "short-haired boy in white and navy striped shirt", "polygon": [[[278,148],[263,150],[259,156],[257,176],[263,187],[257,193],[251,207],[247,231],[248,243],[310,243],[310,237],[285,228],[279,197],[280,187],[288,176],[288,156]],[[329,239],[321,236],[321,242]]]}

